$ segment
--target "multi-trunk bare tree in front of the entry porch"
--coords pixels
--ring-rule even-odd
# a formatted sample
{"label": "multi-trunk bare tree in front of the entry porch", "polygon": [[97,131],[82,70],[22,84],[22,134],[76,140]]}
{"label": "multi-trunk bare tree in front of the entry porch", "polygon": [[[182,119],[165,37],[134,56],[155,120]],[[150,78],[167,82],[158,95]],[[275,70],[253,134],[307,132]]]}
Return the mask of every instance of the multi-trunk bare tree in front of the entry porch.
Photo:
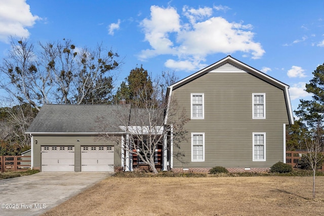
{"label": "multi-trunk bare tree in front of the entry porch", "polygon": [[[114,115],[118,118],[118,126],[126,134],[124,142],[109,133],[104,135],[105,139],[113,140],[116,146],[126,152],[126,166],[130,164],[129,157],[136,155],[142,163],[150,167],[154,174],[157,173],[156,149],[161,149],[166,154],[171,142],[174,147],[177,147],[185,139],[184,124],[188,121],[184,109],[180,109],[174,102],[168,112],[168,121],[165,122],[168,99],[167,97],[161,98],[161,87],[165,86],[161,84],[162,80],[153,81],[153,92],[151,87],[146,88],[144,85],[136,97],[136,100],[140,101],[128,106],[129,113],[120,108],[116,109]],[[110,126],[105,125],[104,121],[101,121],[101,125]],[[103,131],[105,131],[104,128]],[[177,155],[181,154],[177,153],[173,156]]]}

